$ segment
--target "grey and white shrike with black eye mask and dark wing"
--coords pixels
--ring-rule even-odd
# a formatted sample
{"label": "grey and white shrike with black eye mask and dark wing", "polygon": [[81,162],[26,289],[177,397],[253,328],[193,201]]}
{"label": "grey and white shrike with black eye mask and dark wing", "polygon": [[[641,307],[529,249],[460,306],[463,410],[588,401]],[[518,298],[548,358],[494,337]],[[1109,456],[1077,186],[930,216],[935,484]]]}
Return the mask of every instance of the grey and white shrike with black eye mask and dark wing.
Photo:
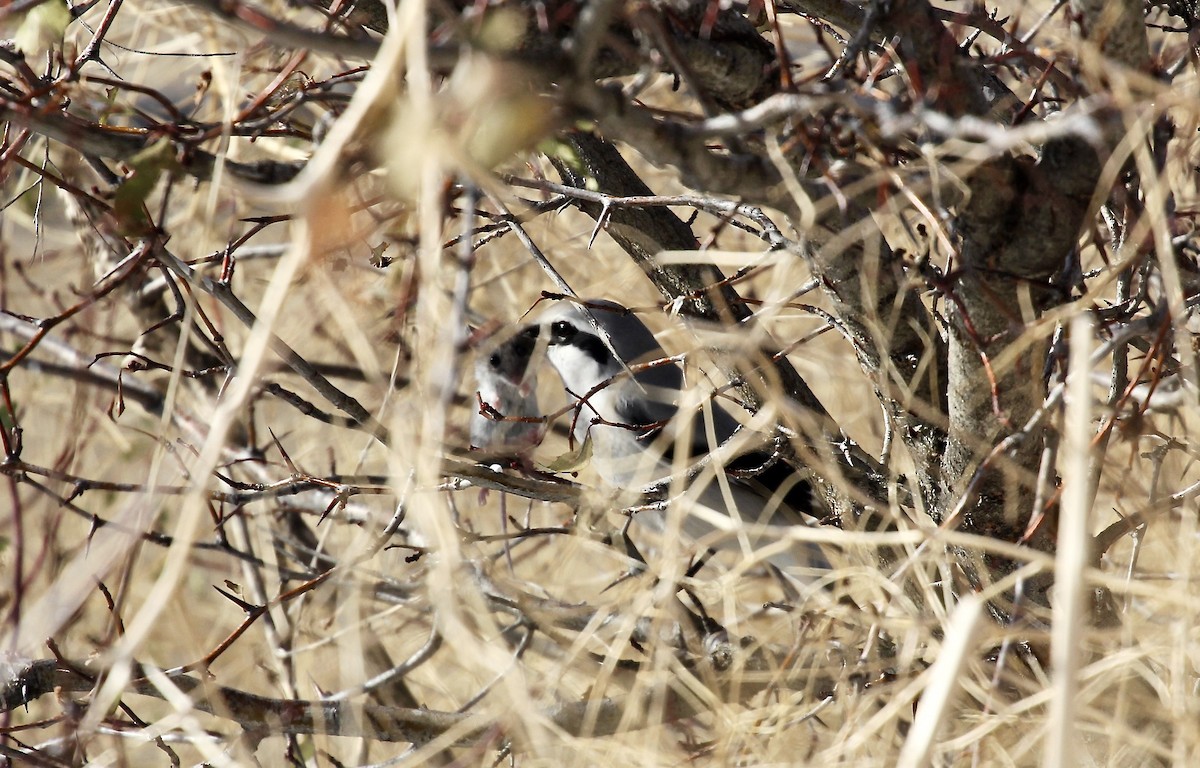
{"label": "grey and white shrike with black eye mask and dark wing", "polygon": [[[722,548],[737,542],[749,552],[770,540],[766,526],[814,522],[811,488],[791,467],[761,450],[737,450],[739,444],[761,449],[764,438],[740,428],[712,400],[697,409],[680,408],[685,389],[677,359],[623,305],[605,299],[559,300],[518,337],[526,341],[517,352],[536,356],[544,349],[545,362],[562,379],[574,402],[571,433],[581,444],[590,442],[600,479],[613,488],[666,486],[672,503],[690,502],[684,504],[682,529],[691,540],[736,530],[737,536],[716,539]],[[530,360],[530,367],[538,362]],[[694,460],[706,457],[719,466],[708,469],[708,476],[704,470],[690,476]],[[679,487],[684,492],[677,494]],[[661,515],[644,520],[664,529]],[[793,545],[768,562],[785,570],[829,568],[816,544]]]}

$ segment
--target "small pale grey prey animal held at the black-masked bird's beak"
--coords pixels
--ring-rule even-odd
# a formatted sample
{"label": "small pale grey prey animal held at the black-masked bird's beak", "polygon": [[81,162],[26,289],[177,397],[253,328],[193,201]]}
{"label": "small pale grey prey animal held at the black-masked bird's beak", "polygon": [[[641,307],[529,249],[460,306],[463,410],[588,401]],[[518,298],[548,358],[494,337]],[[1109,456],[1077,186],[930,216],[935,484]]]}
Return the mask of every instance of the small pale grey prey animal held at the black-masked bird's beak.
{"label": "small pale grey prey animal held at the black-masked bird's beak", "polygon": [[530,371],[536,338],[518,332],[475,355],[470,445],[491,455],[523,456],[542,438],[538,377]]}

